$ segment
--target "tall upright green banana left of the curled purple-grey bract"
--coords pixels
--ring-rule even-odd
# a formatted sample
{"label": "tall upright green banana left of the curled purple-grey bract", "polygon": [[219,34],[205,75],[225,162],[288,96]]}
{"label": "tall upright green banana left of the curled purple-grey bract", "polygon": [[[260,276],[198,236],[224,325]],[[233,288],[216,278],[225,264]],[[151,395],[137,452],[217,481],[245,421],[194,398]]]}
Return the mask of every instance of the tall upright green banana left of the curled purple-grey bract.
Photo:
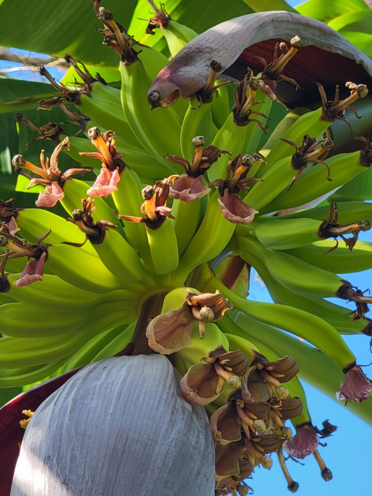
{"label": "tall upright green banana left of the curled purple-grey bract", "polygon": [[122,106],[133,133],[151,156],[174,172],[175,167],[164,159],[164,155],[181,155],[180,123],[170,108],[161,109],[158,114],[151,111],[146,99],[151,80],[140,60],[121,63],[120,70]]}

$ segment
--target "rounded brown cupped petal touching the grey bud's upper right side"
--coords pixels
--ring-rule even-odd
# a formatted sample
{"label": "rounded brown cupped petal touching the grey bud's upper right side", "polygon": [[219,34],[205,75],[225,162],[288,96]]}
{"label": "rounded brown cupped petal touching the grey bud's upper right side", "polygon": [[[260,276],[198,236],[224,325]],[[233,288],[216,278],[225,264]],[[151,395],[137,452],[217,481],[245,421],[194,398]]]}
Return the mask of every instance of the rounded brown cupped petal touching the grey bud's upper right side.
{"label": "rounded brown cupped petal touching the grey bud's upper right side", "polygon": [[208,405],[223,391],[216,394],[218,380],[213,365],[194,364],[181,379],[182,396],[191,405]]}

